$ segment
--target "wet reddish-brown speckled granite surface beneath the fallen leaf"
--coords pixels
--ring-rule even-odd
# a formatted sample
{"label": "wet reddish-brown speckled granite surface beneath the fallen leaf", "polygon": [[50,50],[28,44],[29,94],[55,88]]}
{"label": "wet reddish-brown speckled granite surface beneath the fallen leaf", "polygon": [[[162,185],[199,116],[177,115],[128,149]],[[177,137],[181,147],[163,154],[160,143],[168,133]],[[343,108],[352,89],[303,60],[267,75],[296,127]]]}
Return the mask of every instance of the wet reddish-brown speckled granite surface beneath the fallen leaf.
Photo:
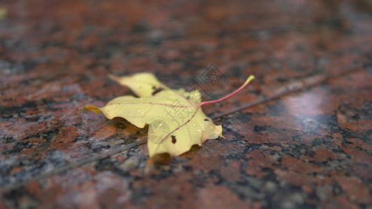
{"label": "wet reddish-brown speckled granite surface beneath the fallen leaf", "polygon": [[[0,208],[372,208],[371,25],[368,0],[1,1]],[[209,116],[329,79],[145,173],[146,130],[78,110],[143,71],[207,100],[257,77]]]}

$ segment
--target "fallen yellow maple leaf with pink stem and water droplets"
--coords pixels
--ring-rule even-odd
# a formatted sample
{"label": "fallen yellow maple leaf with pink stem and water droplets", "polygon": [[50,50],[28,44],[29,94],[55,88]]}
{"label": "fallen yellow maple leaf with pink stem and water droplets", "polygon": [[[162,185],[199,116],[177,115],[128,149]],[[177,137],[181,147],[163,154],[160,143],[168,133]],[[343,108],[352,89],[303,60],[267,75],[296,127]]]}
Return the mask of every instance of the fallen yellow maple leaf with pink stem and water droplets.
{"label": "fallen yellow maple leaf with pink stem and water droplets", "polygon": [[126,95],[114,98],[105,107],[88,104],[82,109],[95,113],[102,111],[109,119],[125,118],[141,128],[149,125],[147,146],[150,158],[161,153],[181,155],[195,144],[201,146],[207,139],[223,137],[222,126],[214,125],[211,118],[203,113],[202,105],[225,100],[254,78],[249,77],[237,91],[220,100],[201,102],[198,90],[187,92],[183,88],[168,88],[150,73],[111,77],[119,84],[131,88],[139,98]]}

